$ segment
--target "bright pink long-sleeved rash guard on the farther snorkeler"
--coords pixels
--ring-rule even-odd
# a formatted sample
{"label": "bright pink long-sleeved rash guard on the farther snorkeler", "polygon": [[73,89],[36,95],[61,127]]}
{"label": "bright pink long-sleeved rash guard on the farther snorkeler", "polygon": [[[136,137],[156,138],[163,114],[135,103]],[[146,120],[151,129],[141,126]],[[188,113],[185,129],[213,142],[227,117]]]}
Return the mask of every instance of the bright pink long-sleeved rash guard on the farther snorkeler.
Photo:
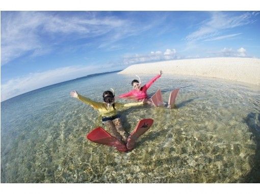
{"label": "bright pink long-sleeved rash guard on the farther snorkeler", "polygon": [[155,82],[160,77],[161,75],[157,75],[154,78],[152,78],[149,82],[147,82],[144,86],[142,86],[140,90],[133,89],[127,93],[119,95],[118,98],[134,97],[136,100],[147,99],[147,89],[152,85],[153,82]]}

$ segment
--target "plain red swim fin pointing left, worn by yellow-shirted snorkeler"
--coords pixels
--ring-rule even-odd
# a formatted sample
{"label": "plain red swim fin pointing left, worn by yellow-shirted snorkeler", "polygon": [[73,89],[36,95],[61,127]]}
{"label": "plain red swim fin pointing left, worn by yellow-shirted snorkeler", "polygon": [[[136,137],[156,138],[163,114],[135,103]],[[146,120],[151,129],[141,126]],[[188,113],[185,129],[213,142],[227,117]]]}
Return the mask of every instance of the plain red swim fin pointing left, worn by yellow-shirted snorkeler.
{"label": "plain red swim fin pointing left, worn by yellow-shirted snorkeler", "polygon": [[125,144],[117,140],[115,137],[110,135],[107,131],[105,131],[101,127],[92,130],[86,137],[95,143],[100,143],[107,146],[115,147],[120,152],[127,151]]}

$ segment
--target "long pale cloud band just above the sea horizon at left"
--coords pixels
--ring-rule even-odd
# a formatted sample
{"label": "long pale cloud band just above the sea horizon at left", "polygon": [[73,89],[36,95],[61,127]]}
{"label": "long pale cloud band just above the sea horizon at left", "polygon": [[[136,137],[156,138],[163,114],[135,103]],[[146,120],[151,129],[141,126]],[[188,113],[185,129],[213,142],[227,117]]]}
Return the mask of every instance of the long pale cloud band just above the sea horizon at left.
{"label": "long pale cloud band just above the sea horizon at left", "polygon": [[96,66],[68,66],[44,72],[36,72],[29,74],[28,76],[11,79],[7,83],[1,85],[1,101],[5,101],[16,95],[44,86],[83,77],[89,75],[89,72],[94,74],[96,72],[100,72],[100,69],[100,67]]}

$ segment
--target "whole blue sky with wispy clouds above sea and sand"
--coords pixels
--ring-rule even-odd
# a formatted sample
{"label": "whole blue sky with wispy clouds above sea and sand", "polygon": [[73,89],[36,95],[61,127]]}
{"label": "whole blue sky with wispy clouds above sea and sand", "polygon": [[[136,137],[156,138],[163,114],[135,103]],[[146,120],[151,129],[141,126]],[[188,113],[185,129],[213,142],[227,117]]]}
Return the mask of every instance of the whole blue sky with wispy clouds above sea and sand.
{"label": "whole blue sky with wispy clouds above sea and sand", "polygon": [[259,11],[1,11],[1,101],[131,64],[260,58]]}

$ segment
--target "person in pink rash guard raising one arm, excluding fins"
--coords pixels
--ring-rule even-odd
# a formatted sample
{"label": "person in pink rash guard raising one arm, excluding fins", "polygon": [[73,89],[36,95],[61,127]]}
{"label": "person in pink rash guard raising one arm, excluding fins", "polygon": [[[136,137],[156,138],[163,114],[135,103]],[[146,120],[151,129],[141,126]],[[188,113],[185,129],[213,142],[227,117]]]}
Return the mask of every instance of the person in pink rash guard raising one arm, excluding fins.
{"label": "person in pink rash guard raising one arm, excluding fins", "polygon": [[[155,76],[154,78],[152,78],[144,86],[141,86],[141,83],[139,83],[138,80],[133,80],[132,86],[134,89],[127,93],[123,93],[123,94],[119,95],[118,98],[131,98],[131,99],[135,99],[137,101],[141,101],[143,99],[148,99],[147,89],[153,84],[153,82],[155,82],[158,78],[160,78],[162,74],[163,74],[163,71],[160,70],[160,74]],[[149,101],[147,103],[150,104]]]}

